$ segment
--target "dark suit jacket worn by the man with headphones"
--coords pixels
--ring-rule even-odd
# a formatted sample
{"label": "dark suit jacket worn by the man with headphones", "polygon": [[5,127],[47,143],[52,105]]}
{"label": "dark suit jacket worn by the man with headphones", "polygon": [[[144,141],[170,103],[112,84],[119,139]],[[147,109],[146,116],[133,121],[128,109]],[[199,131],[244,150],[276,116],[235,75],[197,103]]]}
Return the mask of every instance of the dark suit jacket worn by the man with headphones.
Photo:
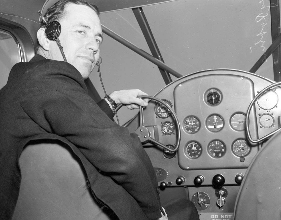
{"label": "dark suit jacket worn by the man with headphones", "polygon": [[157,179],[138,136],[101,110],[71,64],[35,55],[14,65],[0,91],[0,219],[12,217],[23,147],[41,139],[71,147],[94,196],[120,219],[161,217]]}

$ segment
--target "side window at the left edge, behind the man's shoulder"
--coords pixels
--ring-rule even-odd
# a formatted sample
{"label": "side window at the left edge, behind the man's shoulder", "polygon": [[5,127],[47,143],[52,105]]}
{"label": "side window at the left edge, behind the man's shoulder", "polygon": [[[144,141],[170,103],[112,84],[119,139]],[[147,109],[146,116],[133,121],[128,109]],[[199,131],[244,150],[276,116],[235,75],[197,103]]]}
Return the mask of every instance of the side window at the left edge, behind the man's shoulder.
{"label": "side window at the left edge, behind the man's shoulder", "polygon": [[0,89],[7,83],[8,75],[15,63],[21,62],[21,47],[8,31],[0,29]]}

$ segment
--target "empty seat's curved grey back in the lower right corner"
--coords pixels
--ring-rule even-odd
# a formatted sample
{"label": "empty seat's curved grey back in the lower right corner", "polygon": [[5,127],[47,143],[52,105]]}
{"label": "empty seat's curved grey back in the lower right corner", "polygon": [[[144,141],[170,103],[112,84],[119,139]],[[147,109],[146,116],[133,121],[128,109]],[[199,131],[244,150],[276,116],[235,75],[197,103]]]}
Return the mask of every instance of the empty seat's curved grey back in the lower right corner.
{"label": "empty seat's curved grey back in the lower right corner", "polygon": [[281,219],[281,133],[260,149],[239,189],[234,220]]}

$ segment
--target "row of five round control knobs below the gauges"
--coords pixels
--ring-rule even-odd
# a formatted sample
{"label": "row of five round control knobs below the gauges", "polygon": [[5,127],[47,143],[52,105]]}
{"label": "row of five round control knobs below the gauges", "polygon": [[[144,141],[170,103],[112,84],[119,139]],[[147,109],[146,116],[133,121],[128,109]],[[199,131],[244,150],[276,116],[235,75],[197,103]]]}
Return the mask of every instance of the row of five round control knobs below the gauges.
{"label": "row of five round control knobs below the gauges", "polygon": [[[237,184],[241,184],[242,180],[244,178],[243,173],[237,173],[235,175],[235,182]],[[203,175],[198,175],[194,178],[194,185],[195,186],[200,186],[203,182],[205,181],[205,178]],[[177,185],[182,185],[185,182],[185,177],[184,176],[178,176],[178,178],[176,178],[176,184]],[[225,178],[222,174],[216,174],[213,177],[213,184],[217,187],[221,187],[223,186],[223,184],[225,184]],[[167,186],[171,185],[170,182],[161,182],[160,183],[160,187],[161,188],[166,188]]]}

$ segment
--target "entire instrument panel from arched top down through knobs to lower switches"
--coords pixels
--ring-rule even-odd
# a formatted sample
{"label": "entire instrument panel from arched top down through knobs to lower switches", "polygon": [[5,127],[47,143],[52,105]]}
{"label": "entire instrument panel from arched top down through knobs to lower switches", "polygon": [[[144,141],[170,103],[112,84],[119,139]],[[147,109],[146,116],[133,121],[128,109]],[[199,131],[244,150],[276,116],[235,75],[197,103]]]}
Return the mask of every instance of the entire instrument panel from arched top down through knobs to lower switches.
{"label": "entire instrument panel from arched top down through knobs to lower switches", "polygon": [[[253,98],[272,83],[245,71],[214,69],[184,76],[155,95],[175,111],[180,145],[176,152],[149,143],[143,146],[155,167],[159,186],[188,187],[200,219],[210,219],[217,213],[232,215],[244,174],[267,141],[254,144],[247,139],[246,113]],[[279,97],[281,88],[277,86],[260,96],[251,108],[249,128],[254,140],[280,127]],[[176,123],[169,110],[151,100],[143,114],[153,138],[174,149]],[[134,132],[138,126],[136,116],[127,127]],[[220,198],[217,192],[215,182],[220,178],[225,187],[223,196],[227,197]]]}

